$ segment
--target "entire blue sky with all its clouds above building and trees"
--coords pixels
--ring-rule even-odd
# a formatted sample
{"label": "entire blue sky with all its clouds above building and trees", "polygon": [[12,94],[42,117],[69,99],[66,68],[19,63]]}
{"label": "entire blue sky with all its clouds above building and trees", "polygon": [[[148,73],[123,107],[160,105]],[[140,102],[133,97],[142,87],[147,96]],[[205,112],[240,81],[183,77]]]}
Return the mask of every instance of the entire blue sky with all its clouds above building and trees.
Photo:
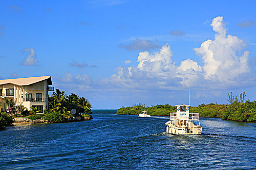
{"label": "entire blue sky with all its clouds above building and trees", "polygon": [[93,109],[225,104],[244,91],[254,101],[255,9],[255,0],[0,0],[0,79],[50,75]]}

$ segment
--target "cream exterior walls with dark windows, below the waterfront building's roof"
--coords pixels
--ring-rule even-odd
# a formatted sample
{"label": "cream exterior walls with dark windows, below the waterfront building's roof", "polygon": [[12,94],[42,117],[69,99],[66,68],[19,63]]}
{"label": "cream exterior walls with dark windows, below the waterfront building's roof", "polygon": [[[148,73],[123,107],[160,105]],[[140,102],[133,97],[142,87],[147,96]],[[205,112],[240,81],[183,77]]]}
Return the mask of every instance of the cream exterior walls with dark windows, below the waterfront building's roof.
{"label": "cream exterior walls with dark windows, below the waterfront building's roof", "polygon": [[[47,80],[32,84],[32,85],[14,85],[14,84],[5,84],[0,85],[2,89],[2,96],[0,96],[1,106],[3,108],[4,97],[7,99],[16,100],[16,106],[22,104],[28,110],[34,105],[43,106],[44,109],[48,109],[48,83]],[[13,88],[14,96],[6,96],[6,89]],[[32,94],[32,101],[26,101],[26,94]],[[42,93],[42,101],[36,101],[36,93]]]}

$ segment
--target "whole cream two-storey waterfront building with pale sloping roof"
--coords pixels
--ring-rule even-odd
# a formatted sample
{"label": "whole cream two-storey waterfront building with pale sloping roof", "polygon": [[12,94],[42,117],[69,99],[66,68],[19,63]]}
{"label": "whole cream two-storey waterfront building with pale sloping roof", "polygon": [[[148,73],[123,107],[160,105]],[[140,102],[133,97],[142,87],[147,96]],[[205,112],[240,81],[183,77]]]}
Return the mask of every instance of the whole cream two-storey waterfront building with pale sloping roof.
{"label": "whole cream two-storey waterfront building with pale sloping roof", "polygon": [[0,80],[1,111],[7,111],[4,98],[16,101],[16,106],[22,104],[28,110],[37,107],[39,113],[48,109],[48,91],[54,91],[51,76],[28,77]]}

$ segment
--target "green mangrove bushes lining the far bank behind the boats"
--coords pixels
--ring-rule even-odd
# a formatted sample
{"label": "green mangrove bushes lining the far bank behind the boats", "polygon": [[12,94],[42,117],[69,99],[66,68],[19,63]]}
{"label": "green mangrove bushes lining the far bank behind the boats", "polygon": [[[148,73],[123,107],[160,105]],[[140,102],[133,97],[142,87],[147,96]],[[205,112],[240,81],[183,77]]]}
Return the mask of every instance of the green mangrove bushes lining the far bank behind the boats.
{"label": "green mangrove bushes lining the far bank behind the boats", "polygon": [[[238,96],[231,92],[228,94],[227,104],[200,104],[190,107],[190,112],[199,113],[200,117],[221,118],[223,120],[256,122],[256,101],[244,101],[245,92]],[[138,103],[133,106],[121,107],[117,114],[137,115],[142,111],[147,111],[152,116],[170,116],[171,112],[176,112],[176,107],[169,104],[147,106]]]}

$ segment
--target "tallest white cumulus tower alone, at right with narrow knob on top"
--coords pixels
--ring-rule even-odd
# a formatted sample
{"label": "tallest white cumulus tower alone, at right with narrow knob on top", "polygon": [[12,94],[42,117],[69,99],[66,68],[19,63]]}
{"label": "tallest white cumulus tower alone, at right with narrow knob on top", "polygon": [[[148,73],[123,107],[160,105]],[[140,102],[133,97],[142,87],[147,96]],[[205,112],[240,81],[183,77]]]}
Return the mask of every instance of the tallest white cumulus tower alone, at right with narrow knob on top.
{"label": "tallest white cumulus tower alone, at right with narrow knob on top", "polygon": [[206,80],[232,84],[239,75],[251,71],[249,51],[237,55],[246,44],[237,36],[226,35],[223,17],[215,17],[211,26],[216,32],[215,39],[203,42],[200,48],[194,48],[195,53],[203,59],[203,76]]}

